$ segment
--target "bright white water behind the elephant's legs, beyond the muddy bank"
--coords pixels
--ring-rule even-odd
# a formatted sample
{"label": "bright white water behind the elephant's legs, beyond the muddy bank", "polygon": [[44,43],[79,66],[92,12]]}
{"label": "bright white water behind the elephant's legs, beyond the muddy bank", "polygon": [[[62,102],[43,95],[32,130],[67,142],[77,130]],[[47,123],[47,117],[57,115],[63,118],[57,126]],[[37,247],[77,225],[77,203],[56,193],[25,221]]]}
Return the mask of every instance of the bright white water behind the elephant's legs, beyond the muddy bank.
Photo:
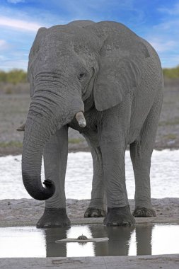
{"label": "bright white water behind the elephant's legs, beyond the muddy bank", "polygon": [[[129,151],[126,152],[126,178],[128,198],[134,198],[134,174]],[[0,200],[30,198],[23,187],[21,176],[21,156],[0,158],[1,188]],[[42,170],[42,181],[44,179]],[[154,151],[151,159],[151,197],[179,197],[179,150]],[[90,199],[93,165],[91,153],[70,153],[66,176],[66,197]]]}

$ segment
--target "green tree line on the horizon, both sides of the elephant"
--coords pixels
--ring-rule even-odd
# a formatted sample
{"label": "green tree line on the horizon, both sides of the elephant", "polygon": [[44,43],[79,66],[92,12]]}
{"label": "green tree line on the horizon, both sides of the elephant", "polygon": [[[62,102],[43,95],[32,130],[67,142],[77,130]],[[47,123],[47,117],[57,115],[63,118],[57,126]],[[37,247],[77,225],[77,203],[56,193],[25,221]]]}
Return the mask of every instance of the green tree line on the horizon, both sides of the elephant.
{"label": "green tree line on the horizon, both sides of the elephant", "polygon": [[[179,65],[173,68],[163,68],[163,75],[166,79],[178,79]],[[10,71],[0,70],[0,82],[11,84],[28,82],[27,72],[22,69],[12,69]]]}

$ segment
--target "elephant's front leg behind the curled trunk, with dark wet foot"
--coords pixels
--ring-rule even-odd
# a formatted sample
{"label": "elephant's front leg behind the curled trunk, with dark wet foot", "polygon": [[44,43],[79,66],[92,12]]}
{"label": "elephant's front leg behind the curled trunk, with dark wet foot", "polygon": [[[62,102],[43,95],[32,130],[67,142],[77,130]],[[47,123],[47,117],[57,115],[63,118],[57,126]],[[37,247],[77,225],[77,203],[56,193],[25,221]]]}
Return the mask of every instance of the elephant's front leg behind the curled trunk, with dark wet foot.
{"label": "elephant's front leg behind the curled trunk, with dark wet foot", "polygon": [[37,228],[70,226],[66,212],[64,179],[67,168],[68,127],[62,127],[45,145],[45,179],[55,184],[55,193],[45,201],[45,211],[37,222]]}

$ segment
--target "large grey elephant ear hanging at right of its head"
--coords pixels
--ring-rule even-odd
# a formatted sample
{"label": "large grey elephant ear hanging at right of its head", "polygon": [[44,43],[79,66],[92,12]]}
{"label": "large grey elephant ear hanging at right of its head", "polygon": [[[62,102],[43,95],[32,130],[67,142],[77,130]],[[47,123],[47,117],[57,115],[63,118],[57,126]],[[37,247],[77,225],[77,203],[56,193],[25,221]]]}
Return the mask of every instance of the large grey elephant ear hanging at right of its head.
{"label": "large grey elephant ear hanging at right of its head", "polygon": [[124,100],[132,88],[139,85],[145,58],[149,53],[143,43],[139,42],[139,52],[132,50],[112,49],[105,46],[100,53],[100,63],[94,101],[99,111],[112,108]]}

